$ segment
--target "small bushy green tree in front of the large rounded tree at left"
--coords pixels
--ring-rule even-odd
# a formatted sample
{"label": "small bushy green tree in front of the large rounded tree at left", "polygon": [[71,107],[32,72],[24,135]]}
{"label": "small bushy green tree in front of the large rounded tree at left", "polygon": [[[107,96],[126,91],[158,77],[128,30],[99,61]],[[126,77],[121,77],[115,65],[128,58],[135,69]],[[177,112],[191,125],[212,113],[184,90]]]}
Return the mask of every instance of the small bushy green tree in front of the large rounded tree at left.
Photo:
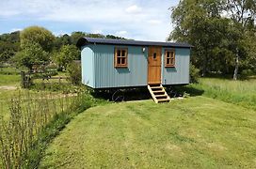
{"label": "small bushy green tree in front of the large rounded tree at left", "polygon": [[14,60],[18,66],[32,70],[34,65],[45,65],[49,61],[49,54],[43,51],[39,43],[26,43],[23,50],[15,55]]}

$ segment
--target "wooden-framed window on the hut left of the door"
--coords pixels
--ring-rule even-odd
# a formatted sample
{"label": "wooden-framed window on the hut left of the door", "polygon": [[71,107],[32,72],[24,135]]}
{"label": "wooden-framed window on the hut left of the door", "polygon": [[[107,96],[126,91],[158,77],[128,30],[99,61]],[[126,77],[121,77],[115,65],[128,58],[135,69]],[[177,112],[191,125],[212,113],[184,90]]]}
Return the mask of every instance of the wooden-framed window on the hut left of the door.
{"label": "wooden-framed window on the hut left of the door", "polygon": [[127,68],[127,55],[128,49],[116,48],[115,49],[115,67],[116,68]]}

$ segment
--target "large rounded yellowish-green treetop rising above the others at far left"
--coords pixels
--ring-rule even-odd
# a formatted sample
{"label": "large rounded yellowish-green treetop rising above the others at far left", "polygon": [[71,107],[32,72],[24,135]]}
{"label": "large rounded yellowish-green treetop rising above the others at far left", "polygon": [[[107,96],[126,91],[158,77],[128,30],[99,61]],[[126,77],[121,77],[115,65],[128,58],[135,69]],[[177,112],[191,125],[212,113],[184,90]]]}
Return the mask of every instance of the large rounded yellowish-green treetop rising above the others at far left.
{"label": "large rounded yellowish-green treetop rising above the others at far left", "polygon": [[21,32],[21,48],[37,43],[45,52],[51,52],[54,47],[55,36],[49,30],[40,26],[30,26]]}

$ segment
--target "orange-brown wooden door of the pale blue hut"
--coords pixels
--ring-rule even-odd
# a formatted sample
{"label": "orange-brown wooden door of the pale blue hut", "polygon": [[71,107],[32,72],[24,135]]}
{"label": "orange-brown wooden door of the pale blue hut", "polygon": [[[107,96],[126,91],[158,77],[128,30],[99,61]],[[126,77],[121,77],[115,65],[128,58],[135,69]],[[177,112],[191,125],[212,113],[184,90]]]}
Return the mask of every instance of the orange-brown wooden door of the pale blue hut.
{"label": "orange-brown wooden door of the pale blue hut", "polygon": [[148,84],[161,84],[162,47],[149,47]]}

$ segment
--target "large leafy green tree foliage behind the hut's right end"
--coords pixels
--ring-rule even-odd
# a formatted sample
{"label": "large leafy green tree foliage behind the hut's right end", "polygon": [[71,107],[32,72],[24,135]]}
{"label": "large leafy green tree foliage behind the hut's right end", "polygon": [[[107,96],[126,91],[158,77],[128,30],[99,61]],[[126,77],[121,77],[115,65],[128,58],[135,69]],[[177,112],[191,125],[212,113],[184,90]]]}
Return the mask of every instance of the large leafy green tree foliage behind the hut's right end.
{"label": "large leafy green tree foliage behind the hut's right end", "polygon": [[[171,19],[175,27],[169,39],[194,46],[192,64],[202,75],[210,72],[230,74],[238,66],[239,69],[255,68],[253,39],[256,29],[255,25],[248,26],[248,21],[255,19],[255,2],[243,2],[245,4],[242,1],[182,0],[172,8]],[[231,19],[223,13],[232,13]]]}

